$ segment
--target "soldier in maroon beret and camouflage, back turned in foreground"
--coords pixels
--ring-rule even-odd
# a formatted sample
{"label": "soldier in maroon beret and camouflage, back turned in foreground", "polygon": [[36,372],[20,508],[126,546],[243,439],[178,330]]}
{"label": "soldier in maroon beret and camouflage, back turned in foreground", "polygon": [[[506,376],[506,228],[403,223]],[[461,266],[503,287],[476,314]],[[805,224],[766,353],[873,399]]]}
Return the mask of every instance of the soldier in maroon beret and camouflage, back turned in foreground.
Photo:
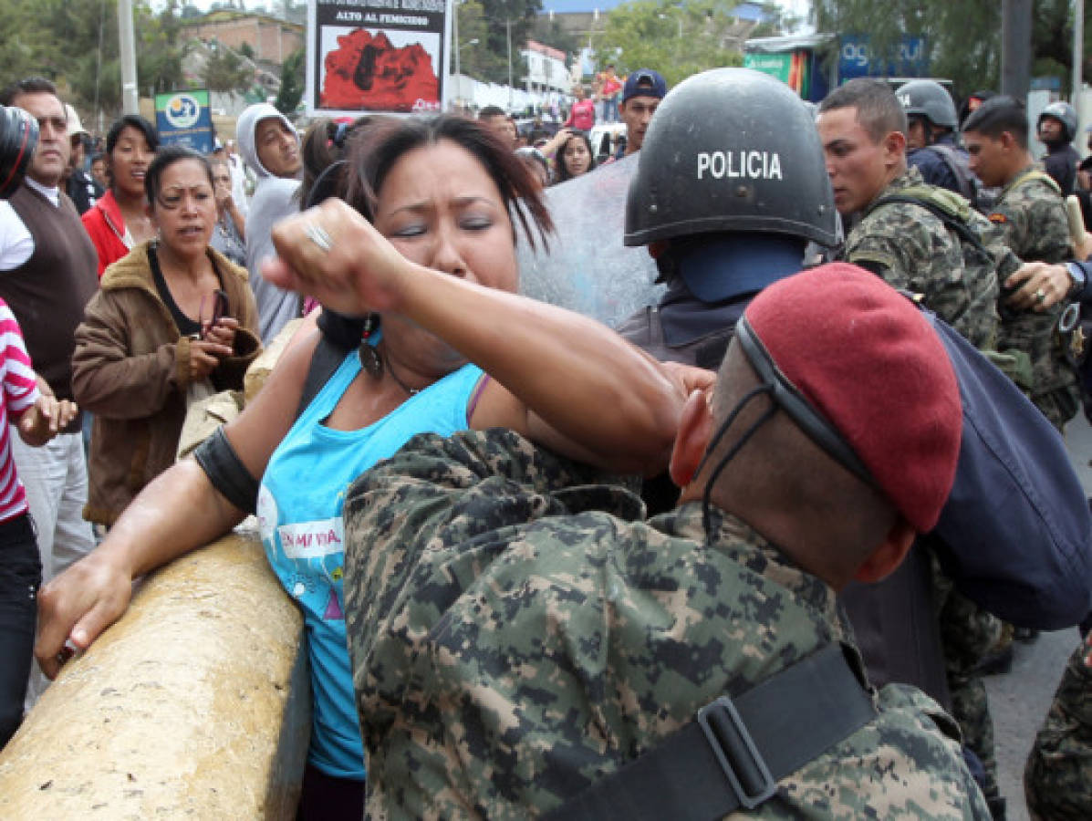
{"label": "soldier in maroon beret and camouflage, back turned in foreground", "polygon": [[[509,431],[411,441],[345,504],[369,816],[580,817],[570,801],[686,734],[703,705],[731,695],[743,712],[756,685],[841,643],[867,715],[782,768],[752,812],[988,818],[943,712],[912,688],[862,688],[835,603],[935,524],[960,416],[924,318],[836,265],[751,302],[712,395],[684,410],[670,513],[642,521],[637,496]],[[770,705],[822,711],[821,691]],[[792,758],[809,730],[756,743]],[[723,778],[698,786],[732,795]],[[603,814],[704,806],[701,789],[653,792],[639,782]]]}

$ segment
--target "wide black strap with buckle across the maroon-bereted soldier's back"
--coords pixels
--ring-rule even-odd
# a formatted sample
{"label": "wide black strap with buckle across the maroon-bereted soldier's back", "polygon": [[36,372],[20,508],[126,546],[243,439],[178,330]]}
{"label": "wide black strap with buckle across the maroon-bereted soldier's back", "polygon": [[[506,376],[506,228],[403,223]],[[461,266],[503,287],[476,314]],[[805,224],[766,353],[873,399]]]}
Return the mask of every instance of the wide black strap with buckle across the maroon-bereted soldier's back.
{"label": "wide black strap with buckle across the maroon-bereted soldier's back", "polygon": [[779,778],[876,717],[845,653],[829,644],[741,695],[722,695],[544,818],[710,821],[760,806]]}

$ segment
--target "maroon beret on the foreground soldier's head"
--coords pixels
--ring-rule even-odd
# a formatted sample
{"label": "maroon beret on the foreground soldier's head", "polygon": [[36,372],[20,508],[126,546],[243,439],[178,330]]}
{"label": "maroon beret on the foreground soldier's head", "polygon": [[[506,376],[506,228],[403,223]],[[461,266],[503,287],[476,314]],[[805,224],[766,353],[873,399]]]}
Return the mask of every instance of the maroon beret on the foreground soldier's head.
{"label": "maroon beret on the foreground soldier's head", "polygon": [[919,533],[948,499],[963,412],[948,354],[903,295],[856,265],[781,279],[745,313],[774,364]]}

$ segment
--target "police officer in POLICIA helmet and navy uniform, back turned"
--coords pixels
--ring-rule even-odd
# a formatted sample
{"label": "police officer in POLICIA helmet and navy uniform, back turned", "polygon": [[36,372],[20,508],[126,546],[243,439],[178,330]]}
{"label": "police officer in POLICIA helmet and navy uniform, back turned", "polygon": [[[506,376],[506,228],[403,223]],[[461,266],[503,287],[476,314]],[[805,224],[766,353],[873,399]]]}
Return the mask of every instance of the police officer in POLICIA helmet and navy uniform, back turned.
{"label": "police officer in POLICIA helmet and navy uniform, back turned", "polygon": [[[721,69],[691,78],[653,118],[627,202],[625,242],[648,246],[667,290],[660,305],[618,330],[660,359],[715,367],[750,299],[804,265],[809,245],[812,251],[816,245],[829,248],[836,234],[823,152],[806,105],[759,72]],[[1053,566],[1063,554],[1076,550],[1089,561],[1090,520],[1083,491],[1045,418],[950,326],[933,321],[963,385],[956,488],[938,527],[893,575],[851,586],[843,599],[871,680],[912,683],[947,705],[930,552],[965,595],[998,616],[1072,624],[1092,605],[1088,579],[1071,591],[1065,614],[1041,608],[1053,599],[1049,591],[1069,586],[1066,572],[1036,580],[1043,597],[1018,588],[1029,568]],[[1004,456],[992,450],[1001,442],[1012,448]],[[1023,449],[1035,459],[1021,456]],[[1011,459],[1022,464],[1006,477]],[[1029,492],[1045,474],[1060,478],[1059,472],[1065,474],[1059,497]],[[1014,495],[996,481],[1009,484]],[[999,492],[1029,501],[998,513],[992,500]],[[1063,516],[1072,528],[1061,542],[1035,521],[1044,513],[1035,508],[1046,498],[1047,515]],[[1014,538],[1017,531],[1026,537]],[[1030,544],[1043,554],[1028,560],[1023,552]]]}

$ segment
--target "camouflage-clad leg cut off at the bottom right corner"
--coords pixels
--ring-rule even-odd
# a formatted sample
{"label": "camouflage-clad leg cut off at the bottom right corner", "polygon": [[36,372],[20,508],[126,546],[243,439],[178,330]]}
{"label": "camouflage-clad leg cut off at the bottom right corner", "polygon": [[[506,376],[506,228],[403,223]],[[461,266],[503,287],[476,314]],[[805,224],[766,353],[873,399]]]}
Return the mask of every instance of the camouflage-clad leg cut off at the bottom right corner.
{"label": "camouflage-clad leg cut off at the bottom right corner", "polygon": [[1024,792],[1033,818],[1092,818],[1092,667],[1084,642],[1069,658],[1046,723],[1035,737]]}

